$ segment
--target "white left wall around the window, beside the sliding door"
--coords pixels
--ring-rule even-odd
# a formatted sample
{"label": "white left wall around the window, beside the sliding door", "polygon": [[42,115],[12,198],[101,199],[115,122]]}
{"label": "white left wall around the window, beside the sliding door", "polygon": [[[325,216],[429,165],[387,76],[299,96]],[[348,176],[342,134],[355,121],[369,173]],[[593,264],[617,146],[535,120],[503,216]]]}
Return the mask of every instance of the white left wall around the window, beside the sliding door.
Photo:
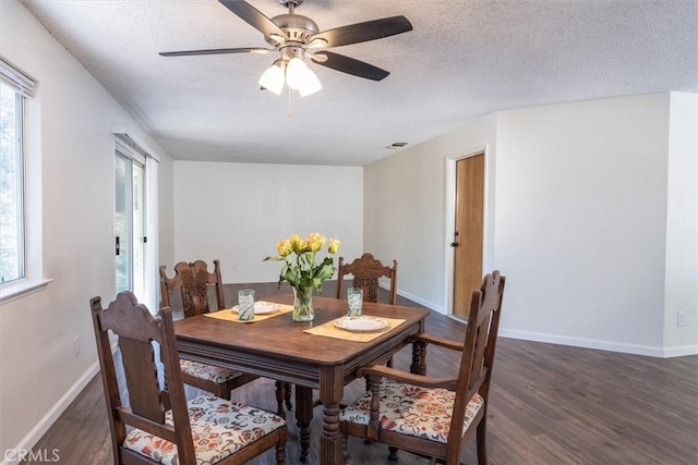
{"label": "white left wall around the window, beside the sliding door", "polygon": [[24,7],[3,0],[0,17],[0,53],[39,81],[31,111],[40,111],[41,134],[29,143],[40,139],[44,272],[53,280],[0,308],[4,458],[9,449],[33,445],[96,374],[89,298],[115,297],[111,124],[128,125],[166,155]]}

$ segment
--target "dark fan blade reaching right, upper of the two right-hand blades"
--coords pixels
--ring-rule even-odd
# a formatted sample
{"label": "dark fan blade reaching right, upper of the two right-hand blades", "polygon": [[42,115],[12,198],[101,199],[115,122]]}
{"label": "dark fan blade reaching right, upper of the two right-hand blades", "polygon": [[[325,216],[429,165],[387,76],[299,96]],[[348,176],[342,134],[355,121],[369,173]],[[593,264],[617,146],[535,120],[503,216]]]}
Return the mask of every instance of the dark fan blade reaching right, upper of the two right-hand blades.
{"label": "dark fan blade reaching right, upper of the two right-hand blades", "polygon": [[323,30],[309,37],[308,44],[311,44],[315,39],[323,39],[327,41],[324,48],[339,47],[381,39],[383,37],[407,33],[408,30],[412,30],[412,24],[407,17],[390,16]]}

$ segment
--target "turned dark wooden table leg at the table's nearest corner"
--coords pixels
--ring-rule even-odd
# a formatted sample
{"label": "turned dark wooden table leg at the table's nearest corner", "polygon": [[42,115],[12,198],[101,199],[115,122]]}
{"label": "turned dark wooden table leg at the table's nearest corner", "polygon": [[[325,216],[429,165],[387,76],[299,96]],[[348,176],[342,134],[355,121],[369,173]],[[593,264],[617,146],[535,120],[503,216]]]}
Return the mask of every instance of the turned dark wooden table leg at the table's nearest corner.
{"label": "turned dark wooden table leg at the table's nearest corner", "polygon": [[342,367],[322,367],[320,401],[323,404],[323,431],[320,437],[320,463],[344,463],[344,441],[339,430],[339,402],[344,394]]}

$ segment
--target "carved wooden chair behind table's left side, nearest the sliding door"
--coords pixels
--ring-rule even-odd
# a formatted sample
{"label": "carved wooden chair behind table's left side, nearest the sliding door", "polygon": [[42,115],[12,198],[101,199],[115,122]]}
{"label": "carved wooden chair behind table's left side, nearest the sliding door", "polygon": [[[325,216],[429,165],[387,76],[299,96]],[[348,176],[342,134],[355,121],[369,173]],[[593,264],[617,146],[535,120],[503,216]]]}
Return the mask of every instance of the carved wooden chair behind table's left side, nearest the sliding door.
{"label": "carved wooden chair behind table's left side, nearest the sliding door", "polygon": [[[194,262],[180,261],[174,266],[174,277],[168,278],[166,266],[160,266],[160,293],[163,307],[172,306],[172,293],[177,290],[181,293],[182,310],[184,318],[210,311],[208,290],[214,286],[216,294],[216,310],[226,308],[222,292],[222,276],[220,273],[220,260],[214,260],[214,272],[208,272],[208,265],[204,260]],[[252,380],[256,375],[243,374],[201,362],[180,358],[182,378],[184,383],[204,391],[214,393],[219,397],[230,400],[230,392]],[[284,415],[284,401],[290,411],[291,388],[288,383],[276,382],[276,396],[278,403],[277,413]]]}

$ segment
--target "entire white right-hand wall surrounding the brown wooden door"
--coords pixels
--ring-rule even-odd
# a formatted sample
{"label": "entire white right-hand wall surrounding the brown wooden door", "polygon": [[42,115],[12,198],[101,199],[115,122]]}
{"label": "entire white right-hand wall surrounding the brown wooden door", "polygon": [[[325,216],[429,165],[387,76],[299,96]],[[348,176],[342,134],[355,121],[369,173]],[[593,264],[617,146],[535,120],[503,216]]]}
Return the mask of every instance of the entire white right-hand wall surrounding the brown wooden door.
{"label": "entire white right-hand wall surrounding the brown wooden door", "polygon": [[508,279],[503,335],[697,353],[695,107],[661,94],[502,111],[404,149],[364,170],[366,249],[397,256],[400,294],[445,311],[444,160],[486,146],[484,269]]}

